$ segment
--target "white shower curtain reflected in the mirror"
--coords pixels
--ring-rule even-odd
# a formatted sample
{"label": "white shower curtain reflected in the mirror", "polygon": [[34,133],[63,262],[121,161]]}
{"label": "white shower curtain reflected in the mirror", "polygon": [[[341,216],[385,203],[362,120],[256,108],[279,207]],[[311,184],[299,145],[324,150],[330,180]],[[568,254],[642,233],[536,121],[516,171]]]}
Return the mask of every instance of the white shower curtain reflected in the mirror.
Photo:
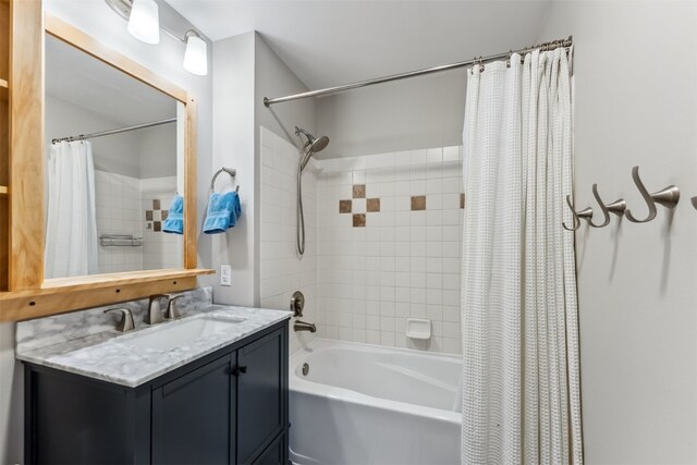
{"label": "white shower curtain reflected in the mirror", "polygon": [[52,144],[48,155],[45,278],[98,273],[97,253],[91,144]]}

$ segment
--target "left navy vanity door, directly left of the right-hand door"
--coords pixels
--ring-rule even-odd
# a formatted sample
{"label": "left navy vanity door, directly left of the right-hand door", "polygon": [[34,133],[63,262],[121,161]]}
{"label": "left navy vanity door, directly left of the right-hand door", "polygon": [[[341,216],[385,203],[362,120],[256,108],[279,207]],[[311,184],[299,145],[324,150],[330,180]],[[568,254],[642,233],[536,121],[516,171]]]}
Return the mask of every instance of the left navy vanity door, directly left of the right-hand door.
{"label": "left navy vanity door, directly left of the right-hand door", "polygon": [[152,463],[229,464],[234,456],[234,354],[152,391]]}

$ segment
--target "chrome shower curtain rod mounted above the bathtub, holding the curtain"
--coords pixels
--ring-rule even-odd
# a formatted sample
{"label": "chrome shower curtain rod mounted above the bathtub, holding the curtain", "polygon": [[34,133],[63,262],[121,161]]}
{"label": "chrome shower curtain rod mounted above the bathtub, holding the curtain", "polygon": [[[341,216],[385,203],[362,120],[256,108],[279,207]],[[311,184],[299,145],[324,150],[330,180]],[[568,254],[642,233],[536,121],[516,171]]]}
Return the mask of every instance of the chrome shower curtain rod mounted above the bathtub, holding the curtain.
{"label": "chrome shower curtain rod mounted above the bathtub, holding the curtain", "polygon": [[372,86],[376,84],[389,83],[392,81],[400,81],[400,79],[407,79],[409,77],[424,76],[426,74],[432,74],[432,73],[440,73],[441,71],[450,71],[450,70],[455,70],[457,68],[472,66],[473,64],[489,63],[491,61],[510,58],[513,53],[525,54],[537,49],[540,49],[541,51],[549,51],[549,50],[554,50],[555,48],[559,48],[559,47],[564,47],[564,48],[571,47],[572,45],[573,45],[573,37],[568,36],[567,39],[552,40],[550,42],[545,42],[539,46],[528,47],[521,50],[511,50],[504,53],[491,54],[489,57],[479,57],[473,60],[460,61],[457,63],[442,64],[440,66],[435,66],[435,68],[426,68],[423,70],[409,71],[401,74],[392,74],[390,76],[377,77],[375,79],[368,79],[368,81],[359,81],[353,84],[344,84],[342,86],[327,87],[325,89],[310,90],[302,94],[294,94],[294,95],[289,95],[286,97],[277,97],[277,98],[264,97],[264,105],[267,107],[270,107],[273,103],[283,103],[284,101],[297,100],[301,98],[321,97],[329,94],[357,89],[360,87]]}

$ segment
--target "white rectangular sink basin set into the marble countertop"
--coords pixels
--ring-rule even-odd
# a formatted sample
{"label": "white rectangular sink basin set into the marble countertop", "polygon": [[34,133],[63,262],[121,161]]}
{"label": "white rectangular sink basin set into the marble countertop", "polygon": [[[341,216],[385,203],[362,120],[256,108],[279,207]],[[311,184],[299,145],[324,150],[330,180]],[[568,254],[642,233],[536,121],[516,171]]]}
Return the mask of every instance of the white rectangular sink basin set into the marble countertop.
{"label": "white rectangular sink basin set into the marble countertop", "polygon": [[167,351],[182,345],[188,345],[199,339],[224,333],[243,321],[246,321],[246,319],[203,317],[184,321],[164,322],[148,331],[123,338],[119,342],[134,347]]}

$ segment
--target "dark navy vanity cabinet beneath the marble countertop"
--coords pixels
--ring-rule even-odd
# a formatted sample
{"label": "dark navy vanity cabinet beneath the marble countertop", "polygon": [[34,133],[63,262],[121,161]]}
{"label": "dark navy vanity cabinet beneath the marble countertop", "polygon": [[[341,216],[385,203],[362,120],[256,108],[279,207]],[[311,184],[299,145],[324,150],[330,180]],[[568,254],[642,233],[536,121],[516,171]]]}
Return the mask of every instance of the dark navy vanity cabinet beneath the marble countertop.
{"label": "dark navy vanity cabinet beneath the marble countertop", "polygon": [[288,464],[288,321],[137,388],[25,365],[26,464]]}

